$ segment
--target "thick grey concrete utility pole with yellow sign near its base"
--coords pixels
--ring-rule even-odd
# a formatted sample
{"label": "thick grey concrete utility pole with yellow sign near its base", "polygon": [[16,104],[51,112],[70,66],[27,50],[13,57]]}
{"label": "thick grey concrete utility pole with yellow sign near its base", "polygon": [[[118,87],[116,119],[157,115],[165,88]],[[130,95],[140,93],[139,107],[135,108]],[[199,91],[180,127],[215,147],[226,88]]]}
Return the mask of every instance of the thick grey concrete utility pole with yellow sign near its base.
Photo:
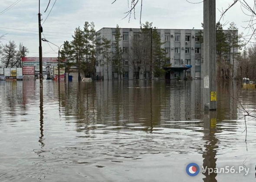
{"label": "thick grey concrete utility pole with yellow sign near its base", "polygon": [[216,110],[216,0],[203,1],[203,83],[204,110]]}

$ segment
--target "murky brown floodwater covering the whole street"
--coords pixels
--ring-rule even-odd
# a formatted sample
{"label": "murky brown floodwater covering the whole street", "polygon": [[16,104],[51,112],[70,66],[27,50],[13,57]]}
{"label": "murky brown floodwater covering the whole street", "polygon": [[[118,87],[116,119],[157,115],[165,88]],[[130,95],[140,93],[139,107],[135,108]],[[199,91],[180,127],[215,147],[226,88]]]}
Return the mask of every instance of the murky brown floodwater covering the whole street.
{"label": "murky brown floodwater covering the whole street", "polygon": [[[255,182],[255,101],[218,83],[204,115],[200,80],[0,81],[0,182]],[[226,166],[249,172],[202,169]]]}

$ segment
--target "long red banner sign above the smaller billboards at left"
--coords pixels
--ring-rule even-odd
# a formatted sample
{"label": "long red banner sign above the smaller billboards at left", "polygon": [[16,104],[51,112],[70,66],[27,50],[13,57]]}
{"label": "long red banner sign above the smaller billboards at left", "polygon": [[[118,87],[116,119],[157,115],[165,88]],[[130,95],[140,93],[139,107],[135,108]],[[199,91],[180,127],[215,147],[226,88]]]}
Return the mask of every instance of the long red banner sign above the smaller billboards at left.
{"label": "long red banner sign above the smaller billboards at left", "polygon": [[[65,64],[66,59],[59,60],[60,64]],[[39,66],[39,57],[22,57],[22,66]],[[58,66],[58,57],[43,57],[43,66]]]}

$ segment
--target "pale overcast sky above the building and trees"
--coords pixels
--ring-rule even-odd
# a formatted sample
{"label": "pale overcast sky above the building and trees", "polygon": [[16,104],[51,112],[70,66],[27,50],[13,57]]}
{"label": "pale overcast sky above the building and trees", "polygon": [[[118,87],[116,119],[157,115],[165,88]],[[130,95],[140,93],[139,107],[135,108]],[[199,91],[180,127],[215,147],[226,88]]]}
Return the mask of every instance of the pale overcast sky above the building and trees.
{"label": "pale overcast sky above the building and trees", "polygon": [[[139,0],[140,1],[140,0]],[[190,0],[197,3],[201,0]],[[219,10],[226,9],[233,0],[216,0],[216,7]],[[38,57],[39,52],[39,36],[38,36],[38,11],[39,3],[37,0],[1,0],[0,12],[8,8],[13,3],[18,2],[15,6],[0,13],[0,35],[6,34],[2,40],[6,44],[9,40],[23,42],[29,48],[28,56]],[[128,0],[51,0],[46,13],[44,13],[49,0],[41,0],[42,23],[53,7],[46,21],[43,23],[43,33],[47,40],[60,46],[64,41],[72,41],[72,34],[76,27],[83,28],[84,22],[94,22],[95,29],[102,27],[115,27],[117,24],[121,28],[139,28],[140,6],[138,4],[135,10],[136,19],[131,16],[130,22],[128,18],[122,19],[128,9]],[[129,0],[129,3],[131,0]],[[220,12],[217,10],[216,19],[220,19]],[[242,26],[246,26],[243,21],[249,20],[245,16],[240,4],[236,4],[230,9],[221,23],[235,22],[239,28],[239,32],[243,32]],[[191,4],[186,0],[144,0],[142,8],[141,22],[153,22],[153,25],[159,29],[201,29],[203,22],[203,3]],[[227,29],[228,26],[224,27]],[[8,28],[8,29],[7,29]],[[22,30],[21,30],[22,29]],[[23,31],[29,30],[29,31]],[[59,33],[49,33],[59,32]],[[28,34],[29,33],[29,34]],[[245,32],[246,34],[247,32]],[[43,35],[42,35],[42,38]],[[57,57],[57,53],[53,52],[57,47],[50,46],[47,42],[42,42],[43,57]],[[51,53],[47,53],[52,51]]]}

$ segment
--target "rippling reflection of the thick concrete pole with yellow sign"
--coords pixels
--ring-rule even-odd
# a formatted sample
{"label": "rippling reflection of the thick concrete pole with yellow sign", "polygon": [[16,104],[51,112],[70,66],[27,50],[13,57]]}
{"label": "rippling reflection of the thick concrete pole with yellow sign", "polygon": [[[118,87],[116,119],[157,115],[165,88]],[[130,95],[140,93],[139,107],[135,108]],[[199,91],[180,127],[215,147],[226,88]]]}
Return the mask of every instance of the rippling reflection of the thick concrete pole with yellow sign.
{"label": "rippling reflection of the thick concrete pole with yellow sign", "polygon": [[[203,151],[203,168],[207,169],[216,168],[216,155],[219,140],[216,138],[216,122],[217,122],[217,112],[216,111],[205,111],[203,118],[203,133],[205,140],[205,150]],[[216,176],[217,173],[208,173],[208,170],[203,173],[205,178],[203,178],[204,182],[217,182]]]}

